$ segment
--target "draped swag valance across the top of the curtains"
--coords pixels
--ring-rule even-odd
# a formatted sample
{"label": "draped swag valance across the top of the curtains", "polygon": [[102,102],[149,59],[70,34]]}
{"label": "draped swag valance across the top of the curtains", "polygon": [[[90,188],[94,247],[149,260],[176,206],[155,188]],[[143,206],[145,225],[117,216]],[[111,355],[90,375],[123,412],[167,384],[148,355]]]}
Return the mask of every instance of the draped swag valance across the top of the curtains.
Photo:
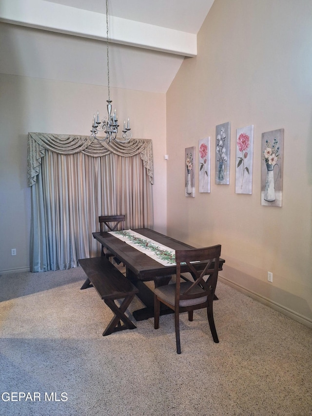
{"label": "draped swag valance across the top of the curtains", "polygon": [[122,157],[140,155],[150,183],[154,183],[153,148],[151,139],[131,139],[128,143],[92,141],[89,136],[28,133],[28,186],[37,182],[39,167],[45,149],[62,155],[82,152],[98,158],[114,153]]}

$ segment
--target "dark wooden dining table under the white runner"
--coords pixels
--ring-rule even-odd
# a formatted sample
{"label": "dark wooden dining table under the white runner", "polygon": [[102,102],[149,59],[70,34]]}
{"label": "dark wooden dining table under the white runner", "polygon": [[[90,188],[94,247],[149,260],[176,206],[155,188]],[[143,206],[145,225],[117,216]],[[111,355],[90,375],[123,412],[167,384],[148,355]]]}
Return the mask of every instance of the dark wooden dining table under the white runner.
{"label": "dark wooden dining table under the white runner", "polygon": [[[138,228],[132,231],[173,250],[195,248],[182,241],[178,241],[158,233],[157,231],[151,230],[150,228]],[[154,293],[144,282],[154,280],[155,287],[168,284],[172,275],[176,274],[176,265],[172,264],[165,266],[159,263],[144,252],[137,250],[137,248],[115,237],[113,233],[96,232],[92,233],[92,235],[102,246],[106,247],[110,253],[114,254],[114,256],[125,265],[126,277],[128,277],[139,290],[137,297],[145,304],[145,307],[132,313],[135,319],[140,321],[154,317]],[[220,258],[219,270],[222,270],[224,263],[225,260]],[[172,310],[162,304],[160,314],[166,315],[169,313],[172,313]]]}

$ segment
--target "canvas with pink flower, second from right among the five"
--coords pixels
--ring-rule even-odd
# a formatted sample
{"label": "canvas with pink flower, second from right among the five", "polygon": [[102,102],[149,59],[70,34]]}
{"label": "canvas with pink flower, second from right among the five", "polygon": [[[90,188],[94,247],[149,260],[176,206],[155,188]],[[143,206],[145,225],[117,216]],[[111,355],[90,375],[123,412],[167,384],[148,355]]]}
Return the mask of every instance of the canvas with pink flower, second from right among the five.
{"label": "canvas with pink flower, second from right among the five", "polygon": [[235,193],[253,193],[254,125],[236,130]]}

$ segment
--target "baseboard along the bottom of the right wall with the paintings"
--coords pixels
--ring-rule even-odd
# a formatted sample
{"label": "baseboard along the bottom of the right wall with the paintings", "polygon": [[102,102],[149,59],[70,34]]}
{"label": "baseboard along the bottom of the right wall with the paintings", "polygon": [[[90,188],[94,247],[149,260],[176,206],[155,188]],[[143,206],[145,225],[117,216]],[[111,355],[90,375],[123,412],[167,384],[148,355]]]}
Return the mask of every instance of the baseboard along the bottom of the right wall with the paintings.
{"label": "baseboard along the bottom of the right wall with the paintings", "polygon": [[235,283],[235,282],[233,282],[233,281],[231,281],[231,280],[229,280],[225,277],[222,277],[222,276],[219,275],[219,279],[220,279],[220,281],[222,281],[222,283],[225,283],[225,284],[233,287],[234,289],[238,290],[239,292],[242,292],[245,295],[248,295],[248,296],[252,297],[253,299],[258,300],[259,302],[261,302],[261,303],[263,303],[267,306],[270,306],[271,308],[275,309],[275,311],[278,311],[281,314],[286,315],[287,317],[290,317],[290,318],[294,319],[295,321],[300,322],[303,325],[306,325],[306,326],[312,328],[312,319],[304,317],[303,315],[300,315],[297,312],[292,311],[291,309],[286,308],[285,306],[280,305],[279,303],[274,302],[273,300],[268,299],[267,297],[259,295],[258,293],[255,293],[255,292],[253,292],[253,291],[251,291],[251,290],[249,290],[249,289],[247,289],[247,288],[245,288],[245,287],[243,287],[243,286],[241,286],[241,285],[239,285],[239,284],[237,284],[237,283]]}

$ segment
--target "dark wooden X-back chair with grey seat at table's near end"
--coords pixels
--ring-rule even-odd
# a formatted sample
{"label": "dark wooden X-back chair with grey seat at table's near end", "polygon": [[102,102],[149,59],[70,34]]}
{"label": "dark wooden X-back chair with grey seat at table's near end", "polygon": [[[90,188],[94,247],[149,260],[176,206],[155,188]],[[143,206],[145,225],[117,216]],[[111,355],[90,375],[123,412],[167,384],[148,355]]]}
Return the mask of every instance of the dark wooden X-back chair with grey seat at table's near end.
{"label": "dark wooden X-back chair with grey seat at table's near end", "polygon": [[[176,283],[159,286],[154,290],[154,328],[158,329],[160,302],[175,311],[176,352],[181,354],[179,314],[188,312],[193,321],[193,311],[207,308],[210,330],[219,342],[213,315],[213,301],[218,278],[221,245],[176,250]],[[191,273],[194,280],[181,282],[181,273]]]}

